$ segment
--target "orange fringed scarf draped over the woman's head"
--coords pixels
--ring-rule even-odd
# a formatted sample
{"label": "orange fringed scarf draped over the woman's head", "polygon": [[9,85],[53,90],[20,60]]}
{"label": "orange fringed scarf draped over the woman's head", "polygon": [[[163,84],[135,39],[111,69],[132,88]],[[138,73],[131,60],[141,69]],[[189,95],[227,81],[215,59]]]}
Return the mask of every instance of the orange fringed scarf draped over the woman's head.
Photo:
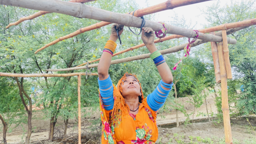
{"label": "orange fringed scarf draped over the woman's head", "polygon": [[[126,72],[124,74],[124,76],[118,81],[117,87],[115,87],[113,85],[113,87],[114,87],[113,97],[114,97],[115,101],[114,101],[114,107],[111,111],[112,118],[110,120],[110,123],[114,127],[118,127],[118,125],[122,122],[122,115],[127,116],[127,115],[129,115],[129,112],[130,112],[129,106],[125,103],[124,98],[121,95],[121,92],[123,92],[122,84],[124,84],[124,80],[126,79],[127,76],[133,76],[138,80],[136,75],[129,74],[128,72]],[[139,80],[138,80],[138,82],[139,82]],[[142,92],[141,83],[139,83],[139,84],[140,84],[140,91],[141,91],[141,101],[140,102],[143,102],[144,95]]]}

